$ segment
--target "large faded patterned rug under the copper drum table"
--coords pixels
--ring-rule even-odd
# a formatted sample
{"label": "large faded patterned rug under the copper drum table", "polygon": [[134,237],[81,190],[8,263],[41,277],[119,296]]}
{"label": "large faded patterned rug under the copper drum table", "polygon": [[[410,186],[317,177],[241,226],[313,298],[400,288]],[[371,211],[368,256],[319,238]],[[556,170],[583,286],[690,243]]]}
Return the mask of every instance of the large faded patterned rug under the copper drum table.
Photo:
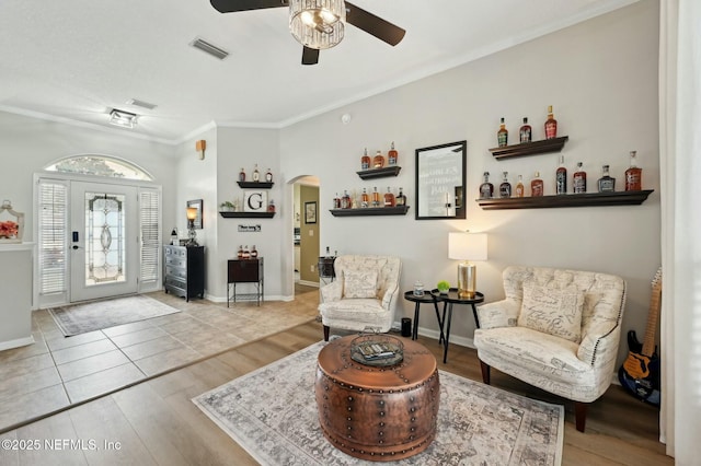
{"label": "large faded patterned rug under the copper drum table", "polygon": [[[193,401],[263,465],[377,464],[336,450],[321,432],[314,377],[323,345],[314,343]],[[561,464],[562,406],[445,371],[439,376],[436,439],[402,465]]]}

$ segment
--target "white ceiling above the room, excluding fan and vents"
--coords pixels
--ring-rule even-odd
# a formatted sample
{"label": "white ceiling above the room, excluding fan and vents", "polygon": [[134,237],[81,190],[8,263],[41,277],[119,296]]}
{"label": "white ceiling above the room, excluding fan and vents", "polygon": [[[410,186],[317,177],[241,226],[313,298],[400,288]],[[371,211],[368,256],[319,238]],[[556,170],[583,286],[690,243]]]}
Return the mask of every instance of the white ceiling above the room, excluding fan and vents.
{"label": "white ceiling above the room, excluding fan and vents", "polygon": [[[348,25],[319,65],[302,66],[285,8],[221,14],[208,0],[0,0],[0,109],[171,143],[211,121],[284,127],[634,1],[354,0],[405,28],[404,39],[391,47]],[[189,47],[195,37],[229,57]],[[139,114],[137,127],[108,126],[115,107]]]}

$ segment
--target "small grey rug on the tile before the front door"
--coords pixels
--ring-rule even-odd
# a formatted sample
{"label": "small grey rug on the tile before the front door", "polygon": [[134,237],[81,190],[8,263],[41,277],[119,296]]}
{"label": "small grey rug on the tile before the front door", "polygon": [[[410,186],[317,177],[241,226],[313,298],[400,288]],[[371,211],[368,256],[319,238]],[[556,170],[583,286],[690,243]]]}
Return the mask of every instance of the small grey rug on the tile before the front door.
{"label": "small grey rug on the tile before the front door", "polygon": [[54,307],[48,311],[67,337],[180,312],[142,295]]}

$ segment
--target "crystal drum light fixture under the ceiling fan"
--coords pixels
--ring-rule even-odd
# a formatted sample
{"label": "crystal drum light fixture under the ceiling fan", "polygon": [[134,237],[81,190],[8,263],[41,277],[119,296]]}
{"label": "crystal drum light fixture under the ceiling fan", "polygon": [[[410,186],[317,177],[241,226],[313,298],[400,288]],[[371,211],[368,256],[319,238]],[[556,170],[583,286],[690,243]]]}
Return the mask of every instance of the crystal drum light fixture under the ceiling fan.
{"label": "crystal drum light fixture under the ceiling fan", "polygon": [[301,45],[323,50],[343,40],[346,5],[343,0],[290,0],[289,31]]}

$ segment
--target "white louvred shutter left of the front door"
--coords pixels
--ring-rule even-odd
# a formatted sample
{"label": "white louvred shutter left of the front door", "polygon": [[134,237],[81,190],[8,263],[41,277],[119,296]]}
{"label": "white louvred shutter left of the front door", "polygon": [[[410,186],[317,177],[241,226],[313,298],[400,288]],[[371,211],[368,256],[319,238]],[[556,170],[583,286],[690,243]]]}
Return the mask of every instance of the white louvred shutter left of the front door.
{"label": "white louvred shutter left of the front door", "polygon": [[39,294],[67,291],[68,185],[39,179],[38,268]]}

